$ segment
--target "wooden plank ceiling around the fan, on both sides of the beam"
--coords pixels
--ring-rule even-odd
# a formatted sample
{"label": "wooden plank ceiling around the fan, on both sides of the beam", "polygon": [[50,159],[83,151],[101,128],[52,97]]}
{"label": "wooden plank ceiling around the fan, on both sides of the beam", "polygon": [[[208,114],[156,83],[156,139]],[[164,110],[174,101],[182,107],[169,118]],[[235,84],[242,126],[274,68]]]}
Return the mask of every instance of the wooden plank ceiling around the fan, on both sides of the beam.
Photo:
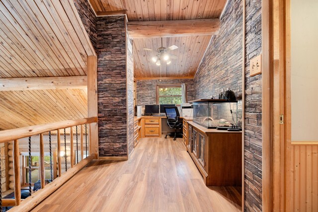
{"label": "wooden plank ceiling around the fan, on both sides of the beam", "polygon": [[[89,0],[97,15],[103,11],[126,10],[129,21],[188,20],[219,18],[227,0]],[[100,12],[100,13],[99,13]],[[176,45],[171,54],[177,56],[170,65],[151,60],[161,46],[159,38],[134,39],[134,71],[136,78],[193,77],[211,40],[211,35],[163,38],[163,47]]]}

